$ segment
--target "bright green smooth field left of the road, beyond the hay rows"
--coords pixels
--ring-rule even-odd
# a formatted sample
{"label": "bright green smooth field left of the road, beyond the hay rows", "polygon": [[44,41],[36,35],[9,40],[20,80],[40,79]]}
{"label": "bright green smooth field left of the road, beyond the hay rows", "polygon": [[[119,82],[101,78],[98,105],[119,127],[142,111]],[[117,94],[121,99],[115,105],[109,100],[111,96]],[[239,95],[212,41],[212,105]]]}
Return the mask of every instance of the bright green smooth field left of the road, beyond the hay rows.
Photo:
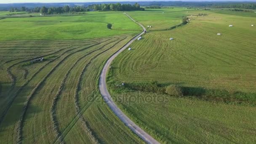
{"label": "bright green smooth field left of the road, beyond the hay rows", "polygon": [[[108,27],[108,24],[110,24]],[[122,13],[1,19],[0,40],[59,40],[107,37],[139,32]]]}

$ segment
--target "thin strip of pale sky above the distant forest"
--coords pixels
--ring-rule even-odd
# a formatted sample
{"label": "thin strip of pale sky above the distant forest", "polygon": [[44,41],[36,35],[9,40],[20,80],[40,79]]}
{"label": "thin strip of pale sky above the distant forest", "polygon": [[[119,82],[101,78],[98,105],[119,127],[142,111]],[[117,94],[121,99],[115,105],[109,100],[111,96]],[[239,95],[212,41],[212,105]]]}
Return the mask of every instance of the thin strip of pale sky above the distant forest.
{"label": "thin strip of pale sky above the distant forest", "polygon": [[256,1],[256,0],[0,0],[0,3],[83,3],[120,1]]}

